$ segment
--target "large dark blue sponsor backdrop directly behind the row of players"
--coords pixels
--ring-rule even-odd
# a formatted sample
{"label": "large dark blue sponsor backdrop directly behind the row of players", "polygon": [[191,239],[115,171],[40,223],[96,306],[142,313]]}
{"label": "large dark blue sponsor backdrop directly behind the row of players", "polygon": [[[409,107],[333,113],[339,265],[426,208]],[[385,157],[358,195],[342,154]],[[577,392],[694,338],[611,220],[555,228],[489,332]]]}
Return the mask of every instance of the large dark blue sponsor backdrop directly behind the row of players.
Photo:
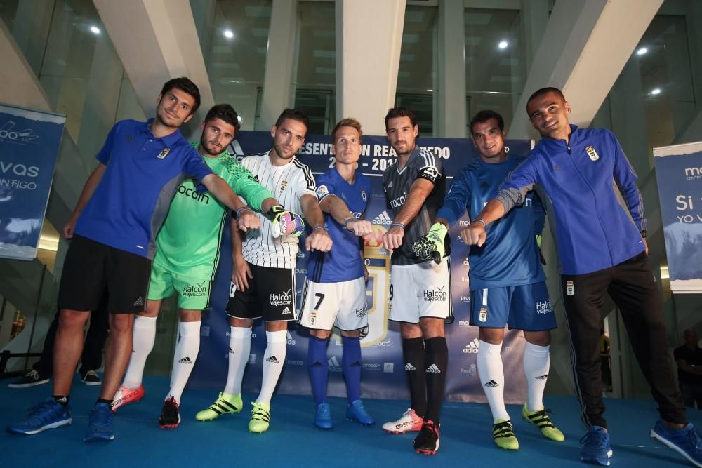
{"label": "large dark blue sponsor backdrop directly behind the row of players", "polygon": [[[241,131],[238,140],[230,148],[234,154],[243,156],[270,149],[272,139],[268,132]],[[298,157],[312,168],[315,174],[326,172],[333,164],[331,138],[328,135],[308,135]],[[446,174],[452,175],[465,166],[477,152],[470,140],[446,138],[420,138],[418,144],[428,147],[442,159]],[[531,149],[530,140],[508,140],[510,154],[526,156]],[[385,137],[363,137],[359,171],[371,177],[371,200],[366,219],[374,225],[376,236],[366,241],[365,258],[370,278],[366,285],[368,295],[369,334],[362,339],[363,372],[362,395],[367,398],[409,399],[402,359],[402,338],[399,324],[388,322],[388,293],[390,285],[390,257],[380,241],[390,227],[392,211],[385,205],[383,192],[383,169],[394,161],[395,153]],[[447,187],[450,186],[451,180]],[[274,192],[275,195],[275,192]],[[477,375],[476,353],[478,329],[468,326],[470,294],[468,292],[468,247],[459,239],[459,232],[467,225],[467,216],[449,231],[451,235],[451,300],[455,320],[446,325],[446,340],[449,344],[449,375],[446,394],[453,401],[485,401]],[[304,241],[300,240],[300,245]],[[227,356],[230,327],[224,312],[227,304],[232,272],[230,233],[223,239],[222,261],[213,285],[212,303],[202,323],[200,354],[193,370],[190,384],[197,387],[224,387],[227,375]],[[300,305],[307,253],[298,253],[296,265],[296,304]],[[395,293],[402,293],[395,291]],[[249,366],[244,375],[244,392],[258,392],[261,382],[261,360],[265,351],[265,329],[262,323],[253,328],[253,342]],[[307,332],[295,323],[289,326],[286,366],[278,391],[286,394],[312,394],[307,370]],[[510,331],[505,335],[502,354],[505,361],[505,399],[510,403],[522,403],[526,397],[526,382],[522,370],[524,337]],[[341,372],[342,346],[338,334],[329,344],[329,395],[345,396],[346,390]]]}

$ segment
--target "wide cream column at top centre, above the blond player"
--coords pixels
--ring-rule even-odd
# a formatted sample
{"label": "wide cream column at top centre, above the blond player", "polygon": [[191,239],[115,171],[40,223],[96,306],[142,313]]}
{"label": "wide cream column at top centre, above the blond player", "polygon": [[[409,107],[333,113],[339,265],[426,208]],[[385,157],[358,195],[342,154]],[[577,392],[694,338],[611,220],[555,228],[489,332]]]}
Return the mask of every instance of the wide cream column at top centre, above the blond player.
{"label": "wide cream column at top centre, above the blond player", "polygon": [[395,105],[405,4],[336,1],[336,117],[355,117],[368,135],[385,135]]}

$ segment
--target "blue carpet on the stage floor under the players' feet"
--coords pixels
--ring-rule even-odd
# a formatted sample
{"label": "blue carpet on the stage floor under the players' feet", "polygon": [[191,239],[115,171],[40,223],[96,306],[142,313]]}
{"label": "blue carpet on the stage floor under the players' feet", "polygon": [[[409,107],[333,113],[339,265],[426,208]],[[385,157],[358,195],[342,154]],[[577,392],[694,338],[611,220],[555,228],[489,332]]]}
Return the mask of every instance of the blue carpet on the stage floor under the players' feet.
{"label": "blue carpet on the stage floor under the players' feet", "polygon": [[[50,385],[28,389],[8,389],[9,380],[0,380],[0,423],[22,420],[25,409],[46,398]],[[412,449],[415,433],[385,434],[384,421],[394,420],[406,409],[406,401],[364,400],[366,409],[378,424],[361,427],[345,420],[345,399],[331,399],[335,426],[321,431],[313,424],[314,402],[309,396],[276,395],[272,405],[271,429],[265,434],[249,434],[249,401],[244,395],[244,412],[212,422],[197,422],[194,414],[208,407],[217,390],[187,390],[178,429],[161,430],[158,418],[166,377],[145,379],[147,396],[138,404],[126,406],[114,417],[115,439],[108,443],[82,443],[87,413],[98,396],[99,387],[74,382],[73,425],[34,436],[0,434],[0,460],[3,467],[583,467],[579,461],[583,435],[576,399],[552,396],[546,399],[553,420],[566,441],[543,439],[536,427],[520,417],[519,406],[509,406],[519,439],[519,450],[508,452],[494,446],[491,417],[486,405],[446,403],[442,413],[441,448],[434,457],[416,455]],[[607,400],[607,420],[612,434],[613,466],[680,467],[682,458],[649,437],[657,416],[653,401]],[[689,410],[688,417],[702,427],[702,413]]]}

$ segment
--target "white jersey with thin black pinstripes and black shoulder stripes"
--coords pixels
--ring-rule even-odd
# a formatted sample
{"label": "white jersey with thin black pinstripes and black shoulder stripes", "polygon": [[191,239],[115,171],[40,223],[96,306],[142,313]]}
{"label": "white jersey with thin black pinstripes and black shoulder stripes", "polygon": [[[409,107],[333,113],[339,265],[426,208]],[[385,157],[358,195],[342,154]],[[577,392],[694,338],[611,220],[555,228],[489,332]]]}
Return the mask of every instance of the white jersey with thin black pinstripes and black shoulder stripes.
{"label": "white jersey with thin black pinstripes and black shoulder stripes", "polygon": [[[241,164],[256,176],[260,185],[270,190],[275,199],[298,215],[303,215],[300,197],[306,194],[317,199],[316,186],[312,171],[298,161],[297,156],[284,166],[272,166],[269,150],[265,153],[252,154],[241,160]],[[244,259],[259,267],[294,268],[298,253],[296,236],[280,236],[273,239],[271,222],[267,216],[256,212],[261,226],[249,229],[244,241]]]}

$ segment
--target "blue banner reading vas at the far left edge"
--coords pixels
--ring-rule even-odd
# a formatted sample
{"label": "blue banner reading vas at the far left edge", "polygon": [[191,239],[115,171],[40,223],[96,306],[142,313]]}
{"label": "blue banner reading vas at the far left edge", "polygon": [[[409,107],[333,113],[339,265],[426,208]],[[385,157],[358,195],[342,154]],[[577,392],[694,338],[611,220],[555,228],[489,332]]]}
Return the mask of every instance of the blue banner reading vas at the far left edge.
{"label": "blue banner reading vas at the far left edge", "polygon": [[33,260],[66,117],[0,105],[0,258]]}

